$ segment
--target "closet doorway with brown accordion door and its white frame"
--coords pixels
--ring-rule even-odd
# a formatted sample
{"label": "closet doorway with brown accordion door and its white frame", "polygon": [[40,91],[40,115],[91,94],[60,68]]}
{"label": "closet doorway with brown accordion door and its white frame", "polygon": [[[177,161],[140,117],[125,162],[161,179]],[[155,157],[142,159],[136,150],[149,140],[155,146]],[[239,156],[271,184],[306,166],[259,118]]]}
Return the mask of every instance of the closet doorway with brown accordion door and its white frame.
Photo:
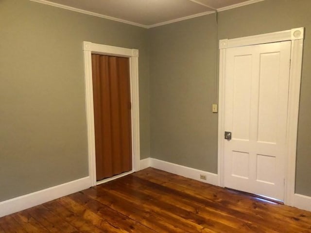
{"label": "closet doorway with brown accordion door and its white frame", "polygon": [[92,186],[139,169],[138,50],[84,42]]}

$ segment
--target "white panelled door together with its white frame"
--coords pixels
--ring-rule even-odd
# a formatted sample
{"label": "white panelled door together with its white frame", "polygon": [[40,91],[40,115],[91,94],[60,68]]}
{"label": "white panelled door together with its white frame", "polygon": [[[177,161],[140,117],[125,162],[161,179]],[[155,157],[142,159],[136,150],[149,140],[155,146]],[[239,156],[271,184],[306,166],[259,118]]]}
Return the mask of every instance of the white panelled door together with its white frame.
{"label": "white panelled door together with its white frame", "polygon": [[[276,33],[220,40],[218,127],[220,186],[276,197],[276,199],[284,200],[285,204],[294,204],[303,39],[304,28],[296,28]],[[250,51],[247,51],[248,49]],[[285,56],[284,54],[289,55]],[[283,62],[279,63],[278,58],[283,59]],[[235,64],[237,67],[228,68],[229,63]],[[246,66],[246,63],[249,66]],[[254,66],[254,64],[257,65]],[[276,65],[279,68],[276,68]],[[287,72],[285,72],[286,69]],[[270,71],[275,72],[275,76],[281,78],[270,83],[268,77],[271,74]],[[232,80],[234,74],[238,74],[241,78],[234,77],[233,80],[237,82],[233,81],[232,83],[228,80]],[[284,82],[280,82],[280,80]],[[287,86],[284,86],[284,83]],[[285,95],[287,92],[286,101],[283,103],[279,98],[278,90],[274,91],[272,88],[274,84]],[[279,87],[279,84],[283,86]],[[235,90],[232,91],[232,86],[236,88],[235,90],[241,90],[235,93]],[[231,93],[229,96],[237,100],[233,105],[233,99],[227,95],[228,91]],[[260,91],[262,91],[261,99]],[[249,98],[246,99],[246,96]],[[241,102],[240,106],[236,104]],[[283,106],[282,113],[279,115],[278,102]],[[237,108],[235,109],[235,107]],[[272,116],[272,111],[267,112],[269,109],[276,114]],[[283,129],[279,127],[278,130],[272,130],[273,127],[278,127],[278,116],[283,118]],[[272,119],[272,117],[275,118]],[[245,124],[245,120],[253,122],[253,124]],[[259,123],[263,123],[264,127],[260,128]],[[265,124],[271,127],[265,127]],[[224,137],[225,131],[230,132],[232,141]],[[277,132],[282,133],[278,134]],[[235,143],[231,143],[233,141]],[[244,145],[245,143],[248,145]],[[235,144],[234,148],[230,146],[233,144]],[[277,146],[280,144],[283,147]],[[283,161],[276,159],[276,155],[282,157]],[[283,165],[275,169],[279,165],[279,161]],[[277,180],[273,178],[274,174],[278,174]],[[232,178],[229,179],[231,184],[233,183],[232,185],[226,177]],[[260,184],[262,187],[256,184]],[[270,195],[269,185],[277,186],[275,188],[276,195]]]}

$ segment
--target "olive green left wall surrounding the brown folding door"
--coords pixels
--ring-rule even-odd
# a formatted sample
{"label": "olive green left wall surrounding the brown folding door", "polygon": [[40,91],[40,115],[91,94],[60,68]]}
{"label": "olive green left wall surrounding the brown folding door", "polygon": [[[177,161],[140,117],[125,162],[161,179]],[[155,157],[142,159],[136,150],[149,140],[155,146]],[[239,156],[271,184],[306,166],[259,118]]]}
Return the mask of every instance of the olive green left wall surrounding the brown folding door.
{"label": "olive green left wall surrounding the brown folding door", "polygon": [[147,30],[29,0],[0,1],[0,201],[88,175],[83,41],[139,50],[149,157]]}

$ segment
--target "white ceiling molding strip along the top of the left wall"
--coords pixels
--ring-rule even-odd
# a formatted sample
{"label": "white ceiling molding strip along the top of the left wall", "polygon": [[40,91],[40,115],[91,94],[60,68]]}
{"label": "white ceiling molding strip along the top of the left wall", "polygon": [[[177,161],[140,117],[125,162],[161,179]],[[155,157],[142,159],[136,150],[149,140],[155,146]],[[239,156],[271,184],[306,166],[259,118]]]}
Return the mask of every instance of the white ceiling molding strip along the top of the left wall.
{"label": "white ceiling molding strip along the top of the left wall", "polygon": [[71,6],[62,5],[62,4],[59,4],[59,3],[54,3],[54,2],[51,2],[51,1],[47,1],[47,0],[30,0],[30,1],[35,1],[35,2],[38,2],[38,3],[45,4],[45,5],[55,6],[55,7],[58,7],[58,8],[63,8],[63,9],[66,9],[66,10],[75,11],[75,12],[79,12],[79,13],[90,15],[90,16],[96,16],[96,17],[100,17],[100,18],[106,18],[106,19],[110,19],[110,20],[113,20],[113,21],[121,22],[121,23],[131,24],[131,25],[134,25],[134,26],[142,27],[142,28],[149,28],[147,25],[144,25],[144,24],[131,22],[131,21],[124,20],[124,19],[121,19],[121,18],[105,16],[105,15],[102,15],[102,14],[98,14],[98,13],[94,13],[94,12],[91,12],[91,11],[82,10],[82,9],[71,7]]}

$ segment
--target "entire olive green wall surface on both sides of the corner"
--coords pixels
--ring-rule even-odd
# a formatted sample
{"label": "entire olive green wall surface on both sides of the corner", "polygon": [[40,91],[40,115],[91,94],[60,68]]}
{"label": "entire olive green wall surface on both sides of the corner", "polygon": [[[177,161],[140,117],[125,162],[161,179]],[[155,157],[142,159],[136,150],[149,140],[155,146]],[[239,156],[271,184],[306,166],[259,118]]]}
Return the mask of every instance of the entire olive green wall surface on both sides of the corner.
{"label": "entire olive green wall surface on both sides of the corner", "polygon": [[[296,192],[308,196],[310,9],[310,0],[265,0],[218,16],[218,39],[306,28]],[[1,0],[0,201],[87,176],[83,41],[139,49],[141,159],[217,173],[215,22],[211,14],[147,30]]]}

